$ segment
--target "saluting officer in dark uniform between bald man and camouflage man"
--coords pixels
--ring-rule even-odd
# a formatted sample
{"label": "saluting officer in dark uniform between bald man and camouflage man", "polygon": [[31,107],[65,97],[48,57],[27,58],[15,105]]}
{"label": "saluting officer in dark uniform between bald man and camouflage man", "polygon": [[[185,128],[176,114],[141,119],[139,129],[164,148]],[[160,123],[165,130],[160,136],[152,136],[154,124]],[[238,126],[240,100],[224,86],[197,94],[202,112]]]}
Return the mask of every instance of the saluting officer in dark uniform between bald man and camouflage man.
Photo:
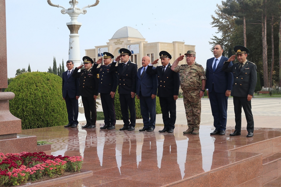
{"label": "saluting officer in dark uniform between bald man and camouflage man", "polygon": [[147,66],[146,73],[148,75],[156,74],[158,77],[157,96],[159,97],[164,123],[164,129],[159,132],[173,133],[176,122],[176,100],[178,99],[178,90],[180,88],[180,75],[171,70],[171,64],[169,62],[172,56],[167,51],[161,51],[159,55],[162,66],[152,69],[153,64],[157,64],[159,60],[156,59]]}

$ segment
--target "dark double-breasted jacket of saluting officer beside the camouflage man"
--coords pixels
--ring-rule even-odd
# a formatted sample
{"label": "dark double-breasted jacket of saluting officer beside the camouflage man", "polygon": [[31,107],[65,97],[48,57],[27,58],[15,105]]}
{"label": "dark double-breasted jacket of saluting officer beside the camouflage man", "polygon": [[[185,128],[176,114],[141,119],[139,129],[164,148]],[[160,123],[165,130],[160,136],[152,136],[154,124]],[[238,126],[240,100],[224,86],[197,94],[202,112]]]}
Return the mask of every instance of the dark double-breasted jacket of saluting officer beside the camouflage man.
{"label": "dark double-breasted jacket of saluting officer beside the camouflage man", "polygon": [[147,66],[146,73],[148,75],[157,75],[158,78],[158,97],[171,97],[178,95],[180,88],[180,74],[171,70],[171,64],[169,63],[167,69],[165,69],[162,76],[163,66],[157,66],[156,69],[153,66]]}

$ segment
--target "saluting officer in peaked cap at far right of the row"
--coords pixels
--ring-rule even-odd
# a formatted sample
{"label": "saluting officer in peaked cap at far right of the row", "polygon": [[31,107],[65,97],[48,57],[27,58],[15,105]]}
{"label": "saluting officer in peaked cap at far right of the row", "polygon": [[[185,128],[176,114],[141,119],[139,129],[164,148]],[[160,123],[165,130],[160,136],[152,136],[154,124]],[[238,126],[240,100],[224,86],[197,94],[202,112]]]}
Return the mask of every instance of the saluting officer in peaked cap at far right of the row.
{"label": "saluting officer in peaked cap at far right of the row", "polygon": [[235,55],[233,55],[224,62],[222,67],[223,71],[232,72],[233,74],[231,96],[233,96],[236,124],[235,131],[231,133],[230,136],[241,135],[241,109],[243,107],[247,120],[248,134],[246,137],[253,137],[254,118],[252,114],[251,99],[254,95],[257,83],[257,66],[246,59],[247,53],[250,51],[246,47],[236,45],[234,51],[236,52],[237,60],[239,62],[234,63],[232,66],[228,66],[230,61],[235,60]]}

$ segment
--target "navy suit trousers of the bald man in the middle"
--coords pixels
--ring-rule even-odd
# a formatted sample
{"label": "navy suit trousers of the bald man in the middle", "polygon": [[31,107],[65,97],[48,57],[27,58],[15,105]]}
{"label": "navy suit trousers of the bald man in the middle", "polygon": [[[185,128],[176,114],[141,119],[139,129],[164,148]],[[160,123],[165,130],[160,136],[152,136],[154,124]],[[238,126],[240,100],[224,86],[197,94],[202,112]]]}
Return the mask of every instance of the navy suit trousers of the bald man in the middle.
{"label": "navy suit trousers of the bald man in the middle", "polygon": [[151,96],[149,97],[142,96],[142,92],[139,91],[139,105],[141,109],[144,128],[148,129],[149,126],[151,126],[153,129],[155,129],[156,98],[151,99]]}

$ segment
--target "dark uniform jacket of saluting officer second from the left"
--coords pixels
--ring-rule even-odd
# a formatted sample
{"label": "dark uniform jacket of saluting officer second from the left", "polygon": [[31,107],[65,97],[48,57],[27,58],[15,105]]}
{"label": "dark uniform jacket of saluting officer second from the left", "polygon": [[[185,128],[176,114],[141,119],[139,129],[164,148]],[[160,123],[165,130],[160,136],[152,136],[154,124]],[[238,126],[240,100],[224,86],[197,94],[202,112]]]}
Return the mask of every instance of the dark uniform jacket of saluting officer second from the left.
{"label": "dark uniform jacket of saluting officer second from the left", "polygon": [[79,95],[82,97],[91,97],[98,95],[98,77],[97,73],[92,71],[92,68],[88,71],[87,75],[85,74],[86,69],[82,69],[78,72],[78,69],[75,68],[72,76],[80,78],[79,85]]}

